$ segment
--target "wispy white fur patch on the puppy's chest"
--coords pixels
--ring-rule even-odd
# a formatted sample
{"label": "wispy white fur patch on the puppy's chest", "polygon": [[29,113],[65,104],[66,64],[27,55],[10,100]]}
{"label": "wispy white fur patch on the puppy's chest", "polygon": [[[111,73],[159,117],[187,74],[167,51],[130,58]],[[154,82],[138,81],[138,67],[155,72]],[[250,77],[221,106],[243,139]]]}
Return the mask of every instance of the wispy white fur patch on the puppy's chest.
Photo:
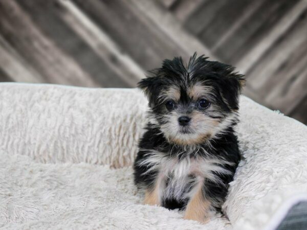
{"label": "wispy white fur patch on the puppy's chest", "polygon": [[152,151],[141,162],[149,166],[149,171],[158,171],[156,179],[159,193],[164,198],[185,199],[190,197],[193,188],[205,179],[222,182],[217,174],[229,174],[223,167],[229,164],[226,160],[214,157],[190,157],[183,159],[169,157],[165,153]]}

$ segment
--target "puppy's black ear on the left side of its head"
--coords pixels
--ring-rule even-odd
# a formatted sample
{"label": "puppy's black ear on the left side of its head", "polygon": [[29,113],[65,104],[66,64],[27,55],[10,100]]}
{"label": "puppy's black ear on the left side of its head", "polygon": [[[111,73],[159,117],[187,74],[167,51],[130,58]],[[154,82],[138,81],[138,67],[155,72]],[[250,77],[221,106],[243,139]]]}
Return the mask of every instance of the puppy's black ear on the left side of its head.
{"label": "puppy's black ear on the left side of its head", "polygon": [[161,83],[159,81],[159,77],[143,78],[138,83],[138,88],[140,88],[144,92],[145,96],[147,96],[149,106],[151,107],[155,104],[155,100],[159,94],[160,87]]}

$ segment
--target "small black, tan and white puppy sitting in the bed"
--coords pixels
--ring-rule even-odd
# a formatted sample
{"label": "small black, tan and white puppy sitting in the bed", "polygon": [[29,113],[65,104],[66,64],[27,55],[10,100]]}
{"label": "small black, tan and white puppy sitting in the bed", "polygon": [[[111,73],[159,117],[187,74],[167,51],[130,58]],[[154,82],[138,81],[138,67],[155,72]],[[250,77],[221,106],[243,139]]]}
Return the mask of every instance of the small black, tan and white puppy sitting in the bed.
{"label": "small black, tan and white puppy sitting in the bed", "polygon": [[230,65],[181,57],[142,79],[148,123],[139,142],[134,179],[145,204],[185,210],[207,222],[221,211],[240,154],[234,126],[244,76]]}

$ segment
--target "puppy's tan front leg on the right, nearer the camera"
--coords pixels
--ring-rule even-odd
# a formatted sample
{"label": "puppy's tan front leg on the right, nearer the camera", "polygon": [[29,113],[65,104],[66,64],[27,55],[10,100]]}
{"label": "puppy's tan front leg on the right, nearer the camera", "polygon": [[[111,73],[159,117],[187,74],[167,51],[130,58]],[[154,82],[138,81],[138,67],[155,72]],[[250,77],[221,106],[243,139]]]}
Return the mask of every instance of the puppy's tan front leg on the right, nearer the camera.
{"label": "puppy's tan front leg on the right, nearer the camera", "polygon": [[195,188],[196,192],[187,204],[184,219],[196,220],[201,223],[209,221],[211,203],[209,200],[205,199],[202,187],[203,185],[200,183],[198,187]]}

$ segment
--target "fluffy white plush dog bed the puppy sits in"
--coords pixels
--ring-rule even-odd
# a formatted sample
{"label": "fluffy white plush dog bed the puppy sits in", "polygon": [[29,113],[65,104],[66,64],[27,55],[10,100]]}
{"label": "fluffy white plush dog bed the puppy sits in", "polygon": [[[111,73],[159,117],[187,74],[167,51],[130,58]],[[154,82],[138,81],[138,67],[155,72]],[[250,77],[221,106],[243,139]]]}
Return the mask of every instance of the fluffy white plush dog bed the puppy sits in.
{"label": "fluffy white plush dog bed the puppy sits in", "polygon": [[143,205],[131,164],[146,104],[137,89],[0,84],[0,227],[273,229],[306,197],[306,126],[241,97],[229,221]]}

